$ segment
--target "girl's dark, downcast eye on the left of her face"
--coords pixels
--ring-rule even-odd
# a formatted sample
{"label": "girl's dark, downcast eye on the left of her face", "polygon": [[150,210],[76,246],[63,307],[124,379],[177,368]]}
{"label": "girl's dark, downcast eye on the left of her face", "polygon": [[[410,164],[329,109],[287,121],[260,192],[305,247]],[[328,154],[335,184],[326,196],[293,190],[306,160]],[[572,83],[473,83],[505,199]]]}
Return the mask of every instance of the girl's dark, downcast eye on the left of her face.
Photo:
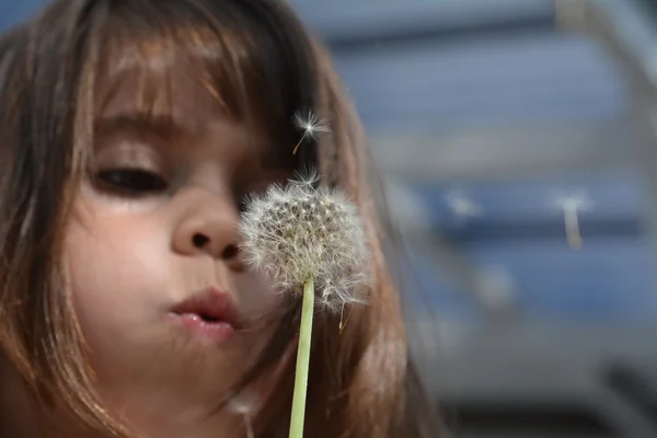
{"label": "girl's dark, downcast eye on the left of her face", "polygon": [[168,188],[168,182],[145,169],[108,169],[95,174],[100,188],[126,196],[157,195]]}

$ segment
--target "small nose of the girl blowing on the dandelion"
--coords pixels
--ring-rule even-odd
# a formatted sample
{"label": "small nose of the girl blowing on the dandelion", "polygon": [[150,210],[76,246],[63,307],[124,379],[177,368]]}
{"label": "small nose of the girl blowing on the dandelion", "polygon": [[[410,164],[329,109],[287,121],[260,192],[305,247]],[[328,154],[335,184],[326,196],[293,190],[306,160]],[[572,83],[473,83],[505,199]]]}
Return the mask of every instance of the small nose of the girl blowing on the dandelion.
{"label": "small nose of the girl blowing on the dandelion", "polygon": [[173,250],[188,256],[209,255],[242,270],[240,215],[233,197],[201,188],[181,196],[185,199],[178,204],[182,211],[173,233]]}

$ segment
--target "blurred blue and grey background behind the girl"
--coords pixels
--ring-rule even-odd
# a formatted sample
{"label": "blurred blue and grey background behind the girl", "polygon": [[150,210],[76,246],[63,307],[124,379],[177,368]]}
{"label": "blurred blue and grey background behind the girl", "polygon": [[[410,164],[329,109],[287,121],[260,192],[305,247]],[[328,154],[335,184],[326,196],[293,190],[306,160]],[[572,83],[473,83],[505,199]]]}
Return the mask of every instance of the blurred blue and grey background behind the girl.
{"label": "blurred blue and grey background behind the girl", "polygon": [[292,3],[365,120],[451,434],[657,437],[655,3]]}

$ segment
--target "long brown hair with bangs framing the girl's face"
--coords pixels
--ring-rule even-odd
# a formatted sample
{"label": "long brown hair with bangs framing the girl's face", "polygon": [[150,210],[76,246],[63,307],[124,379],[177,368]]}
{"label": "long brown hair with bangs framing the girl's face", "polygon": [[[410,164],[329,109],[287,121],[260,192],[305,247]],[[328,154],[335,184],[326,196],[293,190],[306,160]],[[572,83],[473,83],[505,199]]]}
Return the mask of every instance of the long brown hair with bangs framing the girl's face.
{"label": "long brown hair with bangs framing the girl's face", "polygon": [[[256,123],[291,166],[316,163],[326,183],[347,189],[371,233],[369,306],[355,308],[342,333],[339,316],[322,313],[315,322],[307,435],[438,436],[410,359],[385,257],[393,233],[361,126],[326,51],[289,8],[274,0],[59,0],[5,35],[0,50],[0,342],[44,413],[64,402],[90,433],[132,436],[94,390],[65,293],[62,230],[93,143],[99,84],[112,81],[105,72],[123,65],[148,74],[153,59],[173,56],[199,67],[227,115]],[[166,78],[143,83],[145,102],[172,87]],[[292,155],[297,110],[326,118],[332,132]],[[287,436],[293,361],[281,353],[295,348],[299,306],[286,312],[237,388],[288,357],[256,418],[262,437]]]}

